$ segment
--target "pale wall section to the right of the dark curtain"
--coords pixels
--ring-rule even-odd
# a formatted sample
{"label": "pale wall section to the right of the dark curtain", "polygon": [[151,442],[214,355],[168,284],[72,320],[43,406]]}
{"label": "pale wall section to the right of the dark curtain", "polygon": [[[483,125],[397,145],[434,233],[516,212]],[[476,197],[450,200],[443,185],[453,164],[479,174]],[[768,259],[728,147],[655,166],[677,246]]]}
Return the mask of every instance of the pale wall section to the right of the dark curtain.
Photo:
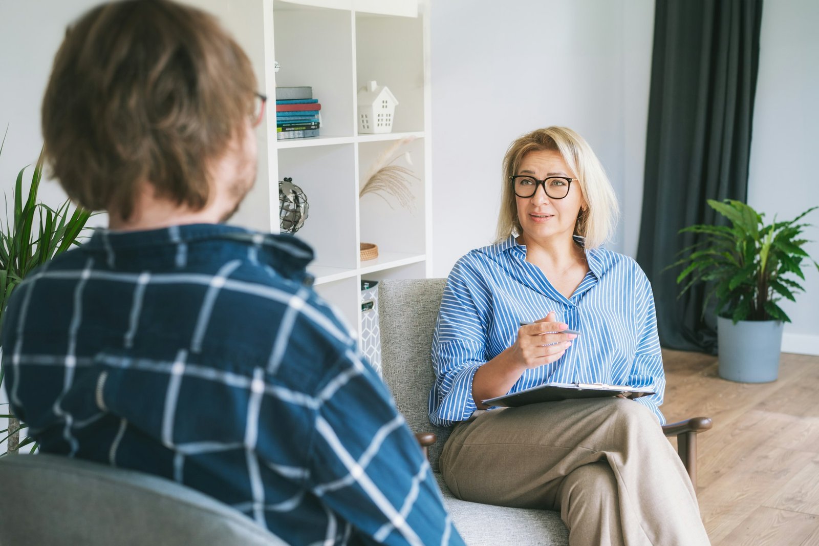
{"label": "pale wall section to the right of the dark curtain", "polygon": [[[753,111],[748,202],[790,220],[819,205],[819,2],[765,2],[762,11],[759,76]],[[771,179],[776,180],[771,184]],[[814,228],[805,249],[819,261],[819,211],[805,218]],[[782,350],[819,355],[819,272],[806,267],[805,293],[782,307]]]}

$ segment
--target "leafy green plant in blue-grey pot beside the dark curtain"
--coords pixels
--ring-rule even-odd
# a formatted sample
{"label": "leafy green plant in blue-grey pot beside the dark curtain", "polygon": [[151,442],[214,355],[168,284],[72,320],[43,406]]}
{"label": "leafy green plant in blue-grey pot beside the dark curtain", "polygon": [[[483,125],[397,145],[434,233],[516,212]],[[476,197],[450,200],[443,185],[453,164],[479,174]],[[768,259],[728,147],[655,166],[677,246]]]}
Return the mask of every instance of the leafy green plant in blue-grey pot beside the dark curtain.
{"label": "leafy green plant in blue-grey pot beside the dark curtain", "polygon": [[782,330],[790,317],[777,302],[796,301],[803,292],[802,267],[819,264],[805,252],[800,223],[817,207],[808,208],[790,221],[763,221],[764,215],[744,202],[708,200],[708,205],[731,222],[725,225],[691,225],[680,233],[703,234],[699,243],[685,248],[686,255],[672,266],[686,266],[677,284],[709,283],[704,310],[716,300],[719,375],[727,380],[764,383],[776,380]]}

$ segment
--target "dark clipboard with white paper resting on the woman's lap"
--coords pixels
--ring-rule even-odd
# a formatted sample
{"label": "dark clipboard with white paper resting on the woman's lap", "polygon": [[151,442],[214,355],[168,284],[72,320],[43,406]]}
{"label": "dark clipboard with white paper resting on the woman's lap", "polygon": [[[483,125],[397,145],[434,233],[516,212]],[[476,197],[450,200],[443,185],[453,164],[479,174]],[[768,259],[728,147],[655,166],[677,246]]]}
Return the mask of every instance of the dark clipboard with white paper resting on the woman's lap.
{"label": "dark clipboard with white paper resting on the woman's lap", "polygon": [[544,383],[517,393],[504,394],[483,401],[488,406],[519,407],[541,402],[559,402],[572,398],[607,398],[626,394],[627,398],[640,398],[654,394],[651,387],[629,387],[622,384],[604,383]]}

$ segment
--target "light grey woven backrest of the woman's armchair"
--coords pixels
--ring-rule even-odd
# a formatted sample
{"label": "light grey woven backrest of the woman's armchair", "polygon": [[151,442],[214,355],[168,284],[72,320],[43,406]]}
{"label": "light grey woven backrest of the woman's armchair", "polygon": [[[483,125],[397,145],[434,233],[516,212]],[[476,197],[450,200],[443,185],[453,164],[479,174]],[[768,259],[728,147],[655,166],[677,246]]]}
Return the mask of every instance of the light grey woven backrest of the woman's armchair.
{"label": "light grey woven backrest of the woman's armchair", "polygon": [[429,448],[434,471],[450,435],[450,429],[432,426],[428,416],[429,391],[435,382],[430,359],[432,332],[445,285],[446,279],[382,280],[378,289],[384,381],[410,430],[437,435],[437,442]]}

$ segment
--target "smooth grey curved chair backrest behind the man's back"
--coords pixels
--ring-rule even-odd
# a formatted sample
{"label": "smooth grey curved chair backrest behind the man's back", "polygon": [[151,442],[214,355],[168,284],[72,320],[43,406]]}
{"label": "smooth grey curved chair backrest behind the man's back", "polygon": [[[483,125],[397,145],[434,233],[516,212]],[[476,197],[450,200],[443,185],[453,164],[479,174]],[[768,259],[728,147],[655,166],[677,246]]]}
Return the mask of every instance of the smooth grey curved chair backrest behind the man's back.
{"label": "smooth grey curved chair backrest behind the man's back", "polygon": [[59,455],[0,458],[0,491],[0,544],[285,544],[184,485]]}

